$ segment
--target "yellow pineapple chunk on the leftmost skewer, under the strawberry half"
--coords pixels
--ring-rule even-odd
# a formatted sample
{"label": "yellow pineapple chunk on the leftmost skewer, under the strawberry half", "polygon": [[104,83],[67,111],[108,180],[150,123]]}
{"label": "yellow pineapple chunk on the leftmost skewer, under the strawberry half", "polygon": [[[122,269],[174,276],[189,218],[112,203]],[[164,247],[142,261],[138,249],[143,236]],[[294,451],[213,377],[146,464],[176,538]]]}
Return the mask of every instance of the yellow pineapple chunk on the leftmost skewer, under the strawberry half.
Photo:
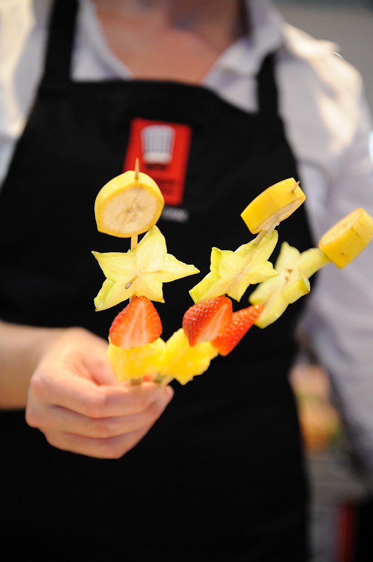
{"label": "yellow pineapple chunk on the leftmost skewer, under the strawberry half", "polygon": [[119,381],[140,379],[158,373],[165,343],[158,338],[145,346],[124,350],[109,342],[108,357],[114,375]]}

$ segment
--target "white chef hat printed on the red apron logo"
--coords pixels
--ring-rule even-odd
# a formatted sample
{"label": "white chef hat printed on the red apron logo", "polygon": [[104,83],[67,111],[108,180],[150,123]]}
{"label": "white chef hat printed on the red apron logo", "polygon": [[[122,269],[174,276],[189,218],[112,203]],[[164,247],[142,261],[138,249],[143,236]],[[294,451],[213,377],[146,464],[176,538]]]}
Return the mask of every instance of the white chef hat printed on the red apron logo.
{"label": "white chef hat printed on the red apron logo", "polygon": [[141,130],[142,160],[146,164],[169,164],[172,160],[174,129],[169,125],[148,125]]}

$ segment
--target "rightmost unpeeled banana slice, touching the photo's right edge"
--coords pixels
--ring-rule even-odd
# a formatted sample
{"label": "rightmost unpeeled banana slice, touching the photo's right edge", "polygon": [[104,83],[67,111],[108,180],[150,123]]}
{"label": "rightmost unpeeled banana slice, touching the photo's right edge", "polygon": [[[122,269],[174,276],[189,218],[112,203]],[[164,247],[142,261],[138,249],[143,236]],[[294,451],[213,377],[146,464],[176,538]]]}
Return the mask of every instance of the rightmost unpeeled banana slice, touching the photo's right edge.
{"label": "rightmost unpeeled banana slice, touching the photo's right edge", "polygon": [[344,268],[366,248],[373,237],[373,218],[355,209],[325,232],[319,248],[337,268]]}

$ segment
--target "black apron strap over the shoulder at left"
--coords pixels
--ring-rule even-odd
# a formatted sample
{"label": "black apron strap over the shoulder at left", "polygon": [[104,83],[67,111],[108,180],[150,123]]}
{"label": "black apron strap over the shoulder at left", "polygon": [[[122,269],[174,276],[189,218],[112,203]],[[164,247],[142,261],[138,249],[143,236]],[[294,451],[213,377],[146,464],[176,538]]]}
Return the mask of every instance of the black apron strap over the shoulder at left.
{"label": "black apron strap over the shoulder at left", "polygon": [[43,82],[65,84],[70,81],[77,7],[77,0],[54,0],[53,2],[49,19]]}

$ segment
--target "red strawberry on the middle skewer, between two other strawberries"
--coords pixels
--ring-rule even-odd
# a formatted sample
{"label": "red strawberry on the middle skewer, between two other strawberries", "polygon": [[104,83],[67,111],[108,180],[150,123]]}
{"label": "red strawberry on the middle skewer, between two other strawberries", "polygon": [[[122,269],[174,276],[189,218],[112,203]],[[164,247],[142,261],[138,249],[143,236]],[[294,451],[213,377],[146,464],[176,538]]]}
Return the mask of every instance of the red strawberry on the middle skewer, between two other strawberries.
{"label": "red strawberry on the middle skewer, between two other strawberries", "polygon": [[183,330],[189,345],[210,342],[224,332],[232,320],[232,301],[228,297],[209,298],[191,306],[183,317]]}

